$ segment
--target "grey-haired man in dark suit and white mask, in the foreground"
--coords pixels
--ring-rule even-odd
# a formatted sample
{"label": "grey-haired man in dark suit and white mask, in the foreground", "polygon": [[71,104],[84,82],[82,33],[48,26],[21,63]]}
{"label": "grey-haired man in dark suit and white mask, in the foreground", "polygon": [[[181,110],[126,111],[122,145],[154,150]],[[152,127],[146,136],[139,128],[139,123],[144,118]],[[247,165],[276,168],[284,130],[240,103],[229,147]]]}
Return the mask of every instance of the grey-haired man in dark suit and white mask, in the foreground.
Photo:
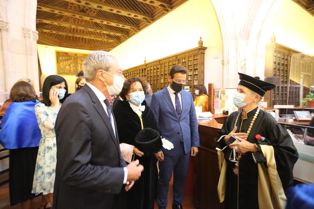
{"label": "grey-haired man in dark suit and white mask, in the foreground", "polygon": [[87,81],[62,104],[55,130],[57,166],[53,208],[116,208],[116,194],[129,190],[143,166],[126,165],[107,97],[124,77],[114,55],[95,51],[83,63]]}

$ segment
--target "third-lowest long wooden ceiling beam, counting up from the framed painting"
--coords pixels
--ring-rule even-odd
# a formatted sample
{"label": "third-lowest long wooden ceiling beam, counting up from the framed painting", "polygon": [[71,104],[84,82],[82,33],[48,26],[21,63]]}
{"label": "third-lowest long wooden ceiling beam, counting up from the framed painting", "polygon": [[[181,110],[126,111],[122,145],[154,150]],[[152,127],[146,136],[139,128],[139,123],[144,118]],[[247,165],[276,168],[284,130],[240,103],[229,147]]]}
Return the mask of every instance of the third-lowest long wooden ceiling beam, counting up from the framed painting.
{"label": "third-lowest long wooden ceiling beam, counting up from the framed painting", "polygon": [[131,29],[131,30],[138,30],[139,29],[138,25],[127,24],[127,23],[118,22],[118,21],[111,20],[111,19],[102,18],[102,17],[96,17],[96,16],[94,17],[94,16],[83,14],[83,13],[69,11],[67,9],[53,7],[53,6],[41,4],[41,3],[37,4],[37,10],[41,10],[41,11],[45,11],[45,12],[51,12],[51,13],[55,13],[55,14],[61,14],[61,15],[65,15],[68,17],[74,17],[74,18],[78,18],[78,19],[92,21],[92,22],[96,22],[96,23],[100,23],[100,24],[111,25],[111,26],[120,27],[120,28],[124,28],[124,29]]}

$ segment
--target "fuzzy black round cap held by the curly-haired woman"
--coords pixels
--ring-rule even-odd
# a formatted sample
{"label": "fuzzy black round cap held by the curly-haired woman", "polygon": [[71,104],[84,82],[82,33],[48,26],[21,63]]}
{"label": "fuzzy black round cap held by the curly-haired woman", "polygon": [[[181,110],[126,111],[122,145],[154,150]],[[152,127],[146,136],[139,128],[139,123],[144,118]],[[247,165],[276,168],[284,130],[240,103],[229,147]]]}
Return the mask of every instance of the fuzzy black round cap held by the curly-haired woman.
{"label": "fuzzy black round cap held by the curly-haired woman", "polygon": [[162,141],[158,131],[153,128],[144,128],[135,137],[135,147],[146,156],[158,152],[162,147]]}

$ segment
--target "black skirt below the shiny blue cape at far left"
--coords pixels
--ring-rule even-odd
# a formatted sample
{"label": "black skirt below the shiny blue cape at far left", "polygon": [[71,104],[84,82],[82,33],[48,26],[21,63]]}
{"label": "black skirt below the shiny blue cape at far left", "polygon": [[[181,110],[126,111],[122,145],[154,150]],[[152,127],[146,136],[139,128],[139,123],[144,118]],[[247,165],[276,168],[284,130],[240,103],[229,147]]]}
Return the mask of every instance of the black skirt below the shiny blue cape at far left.
{"label": "black skirt below the shiny blue cape at far left", "polygon": [[35,197],[32,188],[38,147],[10,149],[9,152],[10,204],[13,206]]}

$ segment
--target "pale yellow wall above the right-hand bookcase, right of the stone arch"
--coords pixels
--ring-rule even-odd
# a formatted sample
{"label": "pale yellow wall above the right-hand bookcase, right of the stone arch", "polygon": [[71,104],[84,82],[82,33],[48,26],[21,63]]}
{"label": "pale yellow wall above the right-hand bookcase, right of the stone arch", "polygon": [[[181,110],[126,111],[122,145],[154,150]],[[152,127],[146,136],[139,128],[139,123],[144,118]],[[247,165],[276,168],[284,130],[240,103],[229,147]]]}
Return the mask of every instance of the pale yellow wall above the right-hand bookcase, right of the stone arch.
{"label": "pale yellow wall above the right-hand bookcase, right of the stone arch", "polygon": [[276,42],[314,55],[314,17],[292,0],[283,0],[269,27],[267,43],[275,33]]}

